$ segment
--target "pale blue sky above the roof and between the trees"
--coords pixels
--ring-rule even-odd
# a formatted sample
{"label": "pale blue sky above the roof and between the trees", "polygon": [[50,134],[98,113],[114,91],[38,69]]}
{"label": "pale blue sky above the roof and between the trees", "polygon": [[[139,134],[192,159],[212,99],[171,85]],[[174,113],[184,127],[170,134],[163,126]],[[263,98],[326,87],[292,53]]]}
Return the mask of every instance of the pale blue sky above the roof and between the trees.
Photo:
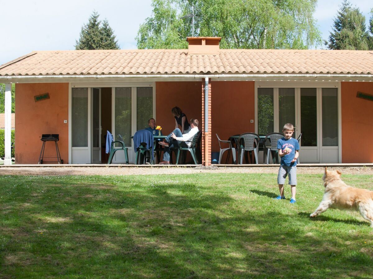
{"label": "pale blue sky above the roof and between the trees", "polygon": [[[351,0],[368,22],[373,1]],[[327,39],[342,0],[319,0],[317,24]],[[151,0],[0,0],[0,65],[35,50],[75,49],[81,27],[93,10],[107,19],[121,49],[136,49],[138,28],[151,16]],[[321,48],[320,46],[319,48]]]}

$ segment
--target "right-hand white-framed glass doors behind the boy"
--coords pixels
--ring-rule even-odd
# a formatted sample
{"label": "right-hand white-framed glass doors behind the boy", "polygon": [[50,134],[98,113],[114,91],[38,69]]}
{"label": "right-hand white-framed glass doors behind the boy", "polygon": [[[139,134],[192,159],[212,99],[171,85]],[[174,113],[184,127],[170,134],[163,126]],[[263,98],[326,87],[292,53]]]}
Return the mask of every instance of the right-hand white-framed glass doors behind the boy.
{"label": "right-hand white-framed glass doors behind the boy", "polygon": [[302,134],[300,161],[338,163],[338,89],[258,87],[257,133],[281,132],[294,125],[293,137]]}

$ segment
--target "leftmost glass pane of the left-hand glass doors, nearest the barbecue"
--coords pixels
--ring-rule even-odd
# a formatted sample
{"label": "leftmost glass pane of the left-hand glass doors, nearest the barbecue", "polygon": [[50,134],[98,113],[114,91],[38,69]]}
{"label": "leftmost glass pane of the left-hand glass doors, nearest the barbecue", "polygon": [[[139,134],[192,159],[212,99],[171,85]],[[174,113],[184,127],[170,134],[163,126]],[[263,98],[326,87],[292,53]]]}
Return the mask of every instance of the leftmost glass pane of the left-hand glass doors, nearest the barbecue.
{"label": "leftmost glass pane of the left-hand glass doors, nearest the barbecue", "polygon": [[88,147],[88,88],[71,92],[72,147]]}

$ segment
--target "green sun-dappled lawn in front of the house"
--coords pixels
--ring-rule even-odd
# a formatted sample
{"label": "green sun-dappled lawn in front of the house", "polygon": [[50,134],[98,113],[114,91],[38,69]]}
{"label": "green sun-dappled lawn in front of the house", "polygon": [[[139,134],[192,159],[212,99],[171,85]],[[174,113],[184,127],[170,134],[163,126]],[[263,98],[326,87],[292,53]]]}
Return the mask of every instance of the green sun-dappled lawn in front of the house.
{"label": "green sun-dappled lawn in front of the house", "polygon": [[0,278],[372,278],[369,223],[308,217],[321,174],[298,174],[294,205],[276,177],[0,175]]}

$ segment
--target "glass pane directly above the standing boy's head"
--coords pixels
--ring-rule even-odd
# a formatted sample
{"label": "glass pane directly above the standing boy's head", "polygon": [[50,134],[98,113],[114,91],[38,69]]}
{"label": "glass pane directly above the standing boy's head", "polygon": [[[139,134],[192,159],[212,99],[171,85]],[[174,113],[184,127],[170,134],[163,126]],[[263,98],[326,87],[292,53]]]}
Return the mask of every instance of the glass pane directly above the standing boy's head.
{"label": "glass pane directly above the standing boy's head", "polygon": [[295,126],[295,89],[279,88],[279,132],[287,123]]}

